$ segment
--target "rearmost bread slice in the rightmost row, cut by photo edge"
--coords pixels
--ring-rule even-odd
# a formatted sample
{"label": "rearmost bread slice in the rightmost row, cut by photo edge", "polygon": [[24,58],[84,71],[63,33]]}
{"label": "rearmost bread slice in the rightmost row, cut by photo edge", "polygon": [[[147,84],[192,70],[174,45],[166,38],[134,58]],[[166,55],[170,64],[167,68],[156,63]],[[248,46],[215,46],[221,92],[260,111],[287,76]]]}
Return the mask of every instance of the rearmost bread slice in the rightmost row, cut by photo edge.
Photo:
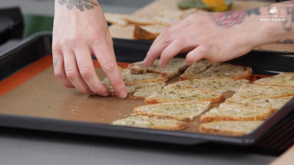
{"label": "rearmost bread slice in the rightmost row, cut by photo edge", "polygon": [[254,84],[261,85],[280,85],[280,86],[292,86],[294,87],[294,73],[280,73],[275,76],[262,78],[253,82]]}

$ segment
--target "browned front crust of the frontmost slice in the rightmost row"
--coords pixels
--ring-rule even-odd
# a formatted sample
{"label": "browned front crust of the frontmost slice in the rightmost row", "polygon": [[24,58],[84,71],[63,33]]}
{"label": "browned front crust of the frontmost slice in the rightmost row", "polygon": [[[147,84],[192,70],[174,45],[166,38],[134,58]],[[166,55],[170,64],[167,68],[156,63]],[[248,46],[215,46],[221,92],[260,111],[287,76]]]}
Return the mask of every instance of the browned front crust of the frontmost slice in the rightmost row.
{"label": "browned front crust of the frontmost slice in the rightmost row", "polygon": [[204,127],[203,124],[200,124],[199,131],[204,134],[218,134],[218,135],[224,135],[224,136],[243,136],[247,134],[246,132],[243,132],[243,131],[234,132],[229,130],[207,128],[207,127]]}

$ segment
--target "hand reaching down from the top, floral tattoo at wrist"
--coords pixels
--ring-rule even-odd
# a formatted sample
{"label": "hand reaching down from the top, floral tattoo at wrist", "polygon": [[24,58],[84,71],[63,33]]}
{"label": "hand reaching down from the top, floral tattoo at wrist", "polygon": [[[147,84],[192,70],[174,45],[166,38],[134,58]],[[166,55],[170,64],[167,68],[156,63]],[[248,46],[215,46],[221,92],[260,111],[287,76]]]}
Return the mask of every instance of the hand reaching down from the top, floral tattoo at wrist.
{"label": "hand reaching down from the top, floral tattoo at wrist", "polygon": [[54,73],[66,87],[107,96],[93,66],[95,55],[120,98],[127,96],[108,26],[96,0],[56,0],[53,28]]}

